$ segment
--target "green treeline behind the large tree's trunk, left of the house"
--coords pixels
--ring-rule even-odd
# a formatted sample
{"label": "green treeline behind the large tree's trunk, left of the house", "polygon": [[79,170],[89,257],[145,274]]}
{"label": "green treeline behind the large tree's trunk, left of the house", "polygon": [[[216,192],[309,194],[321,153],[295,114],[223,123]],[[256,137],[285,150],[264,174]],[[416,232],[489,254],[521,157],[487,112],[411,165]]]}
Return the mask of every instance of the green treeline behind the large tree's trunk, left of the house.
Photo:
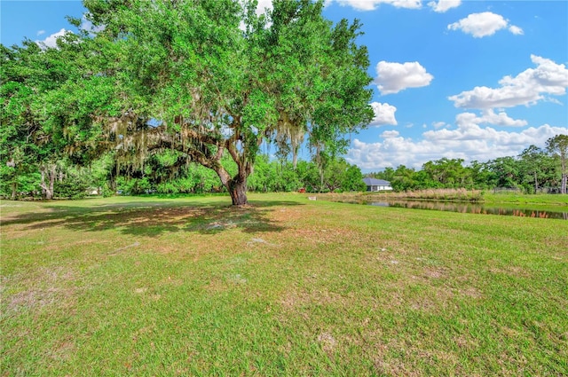
{"label": "green treeline behind the large tree's trunk, left of the house", "polygon": [[[216,173],[201,165],[187,164],[178,159],[177,152],[155,154],[144,166],[117,165],[112,155],[79,168],[72,161],[59,161],[50,176],[53,179],[53,198],[80,199],[86,195],[105,196],[145,193],[208,193],[225,192]],[[365,191],[363,175],[356,165],[343,158],[321,158],[316,161],[297,161],[294,167],[288,159],[270,160],[267,155],[256,158],[254,172],[248,177],[248,191],[306,192]],[[236,164],[228,157],[222,160],[225,169],[236,172]],[[7,169],[6,169],[7,168]],[[43,198],[45,174],[34,169],[14,171],[0,169],[0,194],[13,200]]]}

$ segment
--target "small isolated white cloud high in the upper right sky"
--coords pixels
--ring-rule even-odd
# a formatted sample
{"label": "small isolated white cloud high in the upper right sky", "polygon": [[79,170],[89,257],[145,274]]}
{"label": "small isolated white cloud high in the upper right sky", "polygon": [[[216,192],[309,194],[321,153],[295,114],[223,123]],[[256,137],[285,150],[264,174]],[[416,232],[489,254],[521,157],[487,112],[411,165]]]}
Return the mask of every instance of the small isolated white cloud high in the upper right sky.
{"label": "small isolated white cloud high in the upper right sky", "polygon": [[505,20],[500,14],[493,12],[472,13],[465,19],[461,19],[447,26],[448,30],[460,29],[464,33],[473,35],[476,38],[493,35],[495,32],[505,27],[509,27],[509,31],[513,34],[523,34],[522,28],[509,25],[508,20]]}

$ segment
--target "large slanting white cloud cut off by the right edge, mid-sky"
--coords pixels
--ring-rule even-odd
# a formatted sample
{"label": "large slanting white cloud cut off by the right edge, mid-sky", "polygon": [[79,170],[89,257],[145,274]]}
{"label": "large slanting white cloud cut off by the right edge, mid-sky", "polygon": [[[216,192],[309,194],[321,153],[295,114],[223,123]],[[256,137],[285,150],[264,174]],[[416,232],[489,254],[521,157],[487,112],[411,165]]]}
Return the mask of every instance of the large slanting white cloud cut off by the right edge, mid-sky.
{"label": "large slanting white cloud cut off by the right edge, mid-sky", "polygon": [[568,69],[564,64],[536,55],[531,55],[531,60],[536,68],[526,69],[516,77],[503,77],[499,81],[500,88],[477,86],[448,99],[454,101],[456,107],[489,109],[533,105],[539,100],[546,100],[545,94],[564,95],[568,88]]}

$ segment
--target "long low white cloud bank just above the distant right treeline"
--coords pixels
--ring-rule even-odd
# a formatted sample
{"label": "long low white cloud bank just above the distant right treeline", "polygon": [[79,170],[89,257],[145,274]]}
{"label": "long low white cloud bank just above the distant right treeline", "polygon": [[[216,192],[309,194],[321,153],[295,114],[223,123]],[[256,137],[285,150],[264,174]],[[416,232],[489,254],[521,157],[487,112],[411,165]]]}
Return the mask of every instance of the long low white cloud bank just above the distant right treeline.
{"label": "long low white cloud bank just above the distant right treeline", "polygon": [[515,156],[529,145],[545,145],[549,137],[568,133],[568,128],[544,124],[518,132],[497,131],[477,124],[461,125],[456,130],[429,130],[422,140],[383,132],[383,142],[365,143],[354,139],[346,160],[361,169],[378,170],[405,165],[420,169],[425,162],[442,157],[469,161],[489,161]]}

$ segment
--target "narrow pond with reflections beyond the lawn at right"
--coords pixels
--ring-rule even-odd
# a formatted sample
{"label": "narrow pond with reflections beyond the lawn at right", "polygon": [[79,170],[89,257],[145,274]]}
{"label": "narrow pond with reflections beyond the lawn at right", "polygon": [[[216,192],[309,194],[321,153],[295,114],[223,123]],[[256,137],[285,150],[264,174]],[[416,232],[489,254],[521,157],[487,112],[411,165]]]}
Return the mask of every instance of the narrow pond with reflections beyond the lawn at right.
{"label": "narrow pond with reflections beyond the lawn at right", "polygon": [[457,201],[430,201],[430,200],[384,200],[384,201],[351,201],[347,202],[357,204],[367,204],[379,207],[395,207],[395,208],[415,208],[415,209],[432,209],[438,211],[461,212],[468,214],[480,215],[502,215],[502,216],[520,216],[520,217],[537,217],[568,220],[568,207],[539,207],[521,208],[521,207],[503,207],[496,204],[482,204]]}

